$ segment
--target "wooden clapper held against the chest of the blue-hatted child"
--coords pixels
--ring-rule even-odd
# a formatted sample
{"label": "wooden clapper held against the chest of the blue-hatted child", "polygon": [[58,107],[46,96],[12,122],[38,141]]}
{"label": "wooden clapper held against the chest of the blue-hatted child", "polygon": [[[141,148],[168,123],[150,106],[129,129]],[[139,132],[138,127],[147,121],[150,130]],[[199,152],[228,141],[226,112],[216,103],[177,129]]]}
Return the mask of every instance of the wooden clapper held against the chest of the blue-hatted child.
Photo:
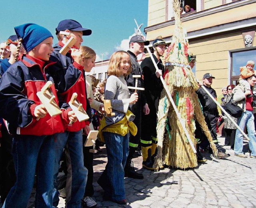
{"label": "wooden clapper held against the chest of the blue-hatted child", "polygon": [[[46,82],[44,87],[42,87],[41,91],[37,92],[36,95],[44,104],[44,107],[46,108],[50,116],[55,116],[61,114],[62,111],[57,105],[55,101],[55,96],[53,95],[52,90],[50,89],[52,84],[53,83],[51,81]],[[39,118],[37,120],[39,120]]]}

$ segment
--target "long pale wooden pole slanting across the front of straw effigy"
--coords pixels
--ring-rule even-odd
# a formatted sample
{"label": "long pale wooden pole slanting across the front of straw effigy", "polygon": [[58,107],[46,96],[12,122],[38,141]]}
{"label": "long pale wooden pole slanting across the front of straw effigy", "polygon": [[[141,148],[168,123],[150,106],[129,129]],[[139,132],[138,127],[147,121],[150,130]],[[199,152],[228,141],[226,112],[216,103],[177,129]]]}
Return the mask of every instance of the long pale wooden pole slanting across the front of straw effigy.
{"label": "long pale wooden pole slanting across the front of straw effigy", "polygon": [[[135,20],[135,19],[134,19],[134,20]],[[136,22],[136,20],[135,20],[135,22]],[[136,22],[136,25],[137,25],[137,27],[138,27],[138,30],[140,31],[140,28],[139,28],[137,22]],[[140,34],[142,35],[141,31],[140,31]],[[157,67],[157,65],[156,65],[156,62],[155,62],[153,56],[152,56],[152,53],[150,52],[149,47],[148,47],[148,46],[145,46],[145,48],[148,50],[148,53],[149,53],[150,58],[151,58],[151,60],[152,60],[152,62],[153,62],[153,64],[154,64],[154,67],[156,68],[156,70],[158,70],[158,67]],[[164,89],[166,90],[166,93],[167,93],[167,95],[168,95],[168,97],[169,97],[169,100],[170,100],[170,102],[172,103],[172,107],[174,108],[174,111],[175,111],[175,113],[176,113],[176,115],[177,115],[177,117],[178,117],[178,119],[179,119],[179,121],[180,121],[180,124],[181,124],[181,126],[182,126],[182,129],[183,129],[184,132],[185,132],[185,135],[186,135],[186,137],[187,137],[187,139],[188,139],[188,142],[189,142],[190,146],[192,147],[193,152],[196,153],[196,149],[195,149],[195,147],[194,147],[194,144],[193,144],[193,142],[192,142],[192,140],[191,140],[191,138],[190,138],[190,135],[188,134],[188,131],[187,131],[186,127],[185,127],[185,121],[184,121],[184,119],[181,118],[180,113],[179,113],[179,111],[178,111],[178,109],[177,109],[177,107],[176,107],[176,105],[175,105],[175,103],[174,103],[174,101],[173,101],[173,99],[172,99],[172,95],[171,95],[170,91],[168,90],[168,88],[167,88],[167,86],[166,86],[166,83],[165,83],[163,77],[160,76],[160,79],[161,79],[161,81],[162,81],[162,84],[163,84],[163,86],[164,86]]]}

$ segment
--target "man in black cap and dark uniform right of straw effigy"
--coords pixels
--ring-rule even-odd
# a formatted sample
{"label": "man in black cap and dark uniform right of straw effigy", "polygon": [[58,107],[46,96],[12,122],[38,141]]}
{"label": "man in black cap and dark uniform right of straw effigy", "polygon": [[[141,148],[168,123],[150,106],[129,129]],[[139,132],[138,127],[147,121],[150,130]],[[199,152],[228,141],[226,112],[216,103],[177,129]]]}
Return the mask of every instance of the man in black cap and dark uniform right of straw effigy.
{"label": "man in black cap and dark uniform right of straw effigy", "polygon": [[[209,93],[212,95],[212,97],[214,97],[214,99],[216,99],[217,98],[216,91],[214,89],[212,89],[212,87],[211,87],[212,79],[215,79],[215,77],[213,77],[211,73],[206,73],[206,74],[204,74],[202,81],[203,81],[203,85],[204,85],[205,89],[209,91]],[[217,159],[226,158],[229,155],[223,153],[222,150],[220,149],[220,146],[218,145],[216,125],[217,125],[217,117],[219,117],[219,115],[218,115],[217,105],[210,98],[210,96],[204,91],[204,89],[202,89],[202,87],[200,87],[196,91],[196,93],[197,93],[200,103],[203,107],[205,121],[206,121],[208,129],[212,135],[212,141],[214,142],[214,144],[216,145],[216,147],[218,149]],[[205,149],[206,146],[208,146],[208,145],[209,145],[209,142],[206,139],[206,137],[204,136],[204,138],[202,138],[202,143],[200,144],[200,146],[203,149]],[[209,153],[212,153],[212,149],[209,150]]]}

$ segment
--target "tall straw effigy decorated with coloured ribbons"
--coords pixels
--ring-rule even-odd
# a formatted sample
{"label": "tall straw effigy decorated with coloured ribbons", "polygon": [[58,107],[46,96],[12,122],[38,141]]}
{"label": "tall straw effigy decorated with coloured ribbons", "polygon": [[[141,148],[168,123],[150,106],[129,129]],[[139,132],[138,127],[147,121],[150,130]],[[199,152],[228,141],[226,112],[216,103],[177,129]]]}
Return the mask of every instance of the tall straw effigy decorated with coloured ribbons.
{"label": "tall straw effigy decorated with coloured ribbons", "polygon": [[163,107],[158,110],[158,154],[154,161],[155,170],[158,170],[164,164],[181,169],[193,168],[198,165],[196,154],[188,143],[181,122],[185,123],[192,143],[196,147],[194,136],[196,129],[194,119],[196,119],[210,142],[214,156],[217,155],[216,146],[212,142],[212,137],[204,121],[204,115],[195,93],[198,89],[198,83],[188,64],[190,59],[188,40],[180,21],[179,0],[173,1],[173,9],[175,31],[172,43],[166,52],[164,81],[172,94],[172,99],[182,119],[178,119],[174,108],[170,105],[166,91],[163,90],[159,102],[159,106]]}

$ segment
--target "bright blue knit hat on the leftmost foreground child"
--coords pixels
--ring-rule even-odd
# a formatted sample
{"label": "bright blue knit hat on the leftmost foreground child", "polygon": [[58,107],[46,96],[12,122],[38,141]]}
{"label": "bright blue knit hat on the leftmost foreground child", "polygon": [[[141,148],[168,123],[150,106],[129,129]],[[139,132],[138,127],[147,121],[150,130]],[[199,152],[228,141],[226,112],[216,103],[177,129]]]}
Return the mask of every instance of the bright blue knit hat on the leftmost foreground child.
{"label": "bright blue knit hat on the leftmost foreground child", "polygon": [[46,28],[33,23],[26,23],[14,27],[18,39],[22,38],[22,45],[26,52],[31,51],[46,38],[52,37],[52,34]]}

